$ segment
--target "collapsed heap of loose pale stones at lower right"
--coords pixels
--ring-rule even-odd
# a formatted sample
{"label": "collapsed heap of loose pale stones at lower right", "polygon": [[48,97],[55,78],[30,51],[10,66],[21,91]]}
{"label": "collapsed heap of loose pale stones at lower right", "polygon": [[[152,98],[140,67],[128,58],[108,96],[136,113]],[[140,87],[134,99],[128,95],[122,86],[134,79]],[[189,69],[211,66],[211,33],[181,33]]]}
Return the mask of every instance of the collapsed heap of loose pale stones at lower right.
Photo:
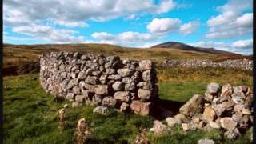
{"label": "collapsed heap of loose pale stones at lower right", "polygon": [[183,130],[218,129],[227,138],[234,139],[249,130],[253,123],[253,93],[247,86],[219,86],[212,82],[207,85],[205,96],[195,94],[174,117],[166,118],[167,125],[155,120],[150,129],[155,134],[182,125]]}

